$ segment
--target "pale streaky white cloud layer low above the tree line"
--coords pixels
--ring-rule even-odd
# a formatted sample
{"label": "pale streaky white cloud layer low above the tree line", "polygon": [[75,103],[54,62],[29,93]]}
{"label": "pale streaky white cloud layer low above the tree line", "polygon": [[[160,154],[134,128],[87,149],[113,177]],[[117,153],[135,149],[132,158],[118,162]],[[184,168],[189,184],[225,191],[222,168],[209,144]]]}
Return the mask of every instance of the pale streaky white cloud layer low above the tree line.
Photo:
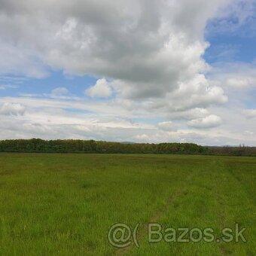
{"label": "pale streaky white cloud layer low above the tree line", "polygon": [[[152,123],[159,113],[143,109],[130,111],[113,102],[90,100],[0,98],[2,102],[26,105],[26,115],[5,115],[0,122],[0,138],[42,139],[99,139],[129,142],[195,142],[201,145],[256,145],[256,119],[247,120],[239,109],[212,108],[223,120],[215,129],[198,129],[185,125],[185,120],[175,119],[173,130],[162,130]],[[72,111],[69,110],[72,108]],[[194,113],[193,113],[194,112]],[[209,112],[190,111],[186,116],[207,117]],[[186,113],[186,114],[187,114]],[[208,113],[208,114],[207,114]],[[143,118],[143,119],[142,119]],[[194,118],[197,119],[197,118]],[[147,122],[148,120],[148,122]],[[202,127],[202,125],[201,125]]]}

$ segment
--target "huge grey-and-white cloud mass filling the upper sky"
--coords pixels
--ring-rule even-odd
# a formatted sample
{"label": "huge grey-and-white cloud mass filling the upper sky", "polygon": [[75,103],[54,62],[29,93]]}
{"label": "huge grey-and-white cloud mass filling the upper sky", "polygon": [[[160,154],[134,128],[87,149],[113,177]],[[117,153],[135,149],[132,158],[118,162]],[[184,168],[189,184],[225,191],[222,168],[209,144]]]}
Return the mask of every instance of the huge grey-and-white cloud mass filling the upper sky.
{"label": "huge grey-and-white cloud mass filling the upper sky", "polygon": [[[209,47],[203,39],[206,22],[226,4],[224,0],[2,0],[1,42],[9,56],[2,61],[3,70],[40,77],[49,66],[72,75],[110,78],[117,97],[135,101],[157,101],[180,89],[197,90],[194,79],[204,78],[208,69],[202,57]],[[203,78],[200,83],[206,90],[209,83]],[[104,96],[109,94],[105,89]],[[199,106],[218,104],[224,97],[215,87],[204,94]]]}

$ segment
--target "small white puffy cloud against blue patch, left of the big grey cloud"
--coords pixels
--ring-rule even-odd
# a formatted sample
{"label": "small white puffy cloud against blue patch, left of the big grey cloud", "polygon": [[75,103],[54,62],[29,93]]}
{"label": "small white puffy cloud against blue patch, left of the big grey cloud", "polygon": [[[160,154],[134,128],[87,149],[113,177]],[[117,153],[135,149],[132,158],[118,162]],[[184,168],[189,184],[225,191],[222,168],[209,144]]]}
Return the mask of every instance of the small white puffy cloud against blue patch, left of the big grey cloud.
{"label": "small white puffy cloud against blue patch, left of the big grey cloud", "polygon": [[92,98],[107,98],[111,96],[112,90],[108,81],[106,81],[105,78],[102,78],[96,81],[96,84],[93,85],[93,87],[90,87],[89,89],[85,90],[85,93]]}

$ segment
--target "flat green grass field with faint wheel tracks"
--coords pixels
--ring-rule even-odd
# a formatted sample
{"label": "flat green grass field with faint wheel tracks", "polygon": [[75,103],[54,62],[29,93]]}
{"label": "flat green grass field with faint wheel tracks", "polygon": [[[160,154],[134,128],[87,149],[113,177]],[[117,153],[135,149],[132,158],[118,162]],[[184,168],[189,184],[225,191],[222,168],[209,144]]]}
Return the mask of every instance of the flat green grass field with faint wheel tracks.
{"label": "flat green grass field with faint wheel tracks", "polygon": [[[0,154],[0,255],[256,255],[256,158]],[[139,248],[114,248],[114,223]],[[146,224],[245,227],[247,242],[149,243]]]}

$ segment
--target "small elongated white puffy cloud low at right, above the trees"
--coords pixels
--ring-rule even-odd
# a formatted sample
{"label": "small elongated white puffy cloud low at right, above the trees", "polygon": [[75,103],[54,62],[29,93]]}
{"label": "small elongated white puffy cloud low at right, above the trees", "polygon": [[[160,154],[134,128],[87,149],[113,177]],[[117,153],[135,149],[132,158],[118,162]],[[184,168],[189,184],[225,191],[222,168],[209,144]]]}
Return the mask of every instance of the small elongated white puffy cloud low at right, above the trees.
{"label": "small elongated white puffy cloud low at right, above the trees", "polygon": [[207,117],[190,120],[187,122],[187,125],[194,128],[205,129],[219,126],[221,123],[221,117],[218,117],[215,114],[210,114]]}

